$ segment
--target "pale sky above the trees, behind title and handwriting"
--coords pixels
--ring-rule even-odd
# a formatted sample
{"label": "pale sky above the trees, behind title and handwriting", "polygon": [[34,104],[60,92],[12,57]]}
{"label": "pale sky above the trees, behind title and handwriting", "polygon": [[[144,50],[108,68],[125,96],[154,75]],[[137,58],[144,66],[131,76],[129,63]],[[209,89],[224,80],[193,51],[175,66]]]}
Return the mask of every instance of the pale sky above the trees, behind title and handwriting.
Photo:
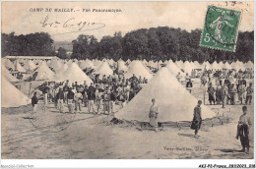
{"label": "pale sky above the trees, behind title and handwriting", "polygon": [[[138,28],[172,27],[190,31],[203,28],[208,5],[216,5],[242,12],[239,30],[254,29],[253,2],[232,4],[228,2],[2,2],[2,32],[15,31],[16,34],[28,34],[45,31],[51,34],[55,41],[71,41],[79,34],[94,34],[97,39],[103,35],[113,35],[115,31],[126,32]],[[227,5],[227,6],[226,6]],[[34,8],[43,8],[42,12],[30,12]],[[45,12],[45,8],[73,8],[76,12]],[[83,9],[120,9],[119,13],[83,12]],[[51,27],[45,24],[60,23]],[[71,20],[70,20],[71,19]],[[70,25],[63,28],[63,24]],[[89,26],[78,31],[79,23],[87,22]],[[101,23],[94,25],[92,23]],[[104,25],[102,25],[104,24]],[[99,28],[102,27],[103,28]],[[98,28],[98,29],[95,29]],[[77,32],[71,32],[77,31]],[[64,32],[71,32],[65,33]]]}

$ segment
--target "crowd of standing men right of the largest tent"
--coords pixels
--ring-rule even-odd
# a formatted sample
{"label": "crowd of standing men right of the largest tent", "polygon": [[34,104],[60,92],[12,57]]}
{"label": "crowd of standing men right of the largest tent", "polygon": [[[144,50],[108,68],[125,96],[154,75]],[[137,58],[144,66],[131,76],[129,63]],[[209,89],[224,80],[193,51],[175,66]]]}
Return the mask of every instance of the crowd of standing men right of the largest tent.
{"label": "crowd of standing men right of the largest tent", "polygon": [[253,95],[252,83],[248,83],[248,74],[244,72],[204,72],[201,86],[207,87],[210,104],[234,105],[251,104]]}

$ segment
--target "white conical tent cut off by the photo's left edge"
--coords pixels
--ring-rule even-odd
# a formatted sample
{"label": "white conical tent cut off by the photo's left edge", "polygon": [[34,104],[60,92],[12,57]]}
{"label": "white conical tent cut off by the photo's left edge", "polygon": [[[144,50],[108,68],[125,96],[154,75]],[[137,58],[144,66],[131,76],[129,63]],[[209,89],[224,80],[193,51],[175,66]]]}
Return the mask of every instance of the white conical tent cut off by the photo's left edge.
{"label": "white conical tent cut off by the photo's left edge", "polygon": [[2,102],[1,107],[19,107],[30,104],[30,99],[8,80],[2,77]]}

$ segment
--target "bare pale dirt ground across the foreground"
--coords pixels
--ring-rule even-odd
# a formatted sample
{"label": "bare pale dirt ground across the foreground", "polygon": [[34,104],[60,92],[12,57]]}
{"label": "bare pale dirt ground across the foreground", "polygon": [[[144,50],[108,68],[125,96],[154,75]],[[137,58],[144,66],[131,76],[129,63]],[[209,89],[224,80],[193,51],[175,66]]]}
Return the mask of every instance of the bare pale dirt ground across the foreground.
{"label": "bare pale dirt ground across the foreground", "polygon": [[[192,94],[202,99],[202,91],[195,88]],[[252,159],[253,127],[250,131],[250,154],[239,152],[240,141],[235,139],[242,105],[227,105],[224,109],[221,107],[210,106],[220,115],[229,117],[230,122],[213,127],[203,125],[199,132],[200,139],[195,139],[194,131],[188,128],[164,128],[157,133],[138,130],[139,126],[110,125],[111,116],[88,113],[61,114],[53,104],[44,109],[40,103],[38,112],[34,115],[31,112],[2,112],[2,158]],[[115,108],[119,109],[118,106]],[[67,107],[65,109],[67,111]],[[82,110],[87,112],[85,107]],[[248,106],[252,120],[253,112],[252,104]]]}

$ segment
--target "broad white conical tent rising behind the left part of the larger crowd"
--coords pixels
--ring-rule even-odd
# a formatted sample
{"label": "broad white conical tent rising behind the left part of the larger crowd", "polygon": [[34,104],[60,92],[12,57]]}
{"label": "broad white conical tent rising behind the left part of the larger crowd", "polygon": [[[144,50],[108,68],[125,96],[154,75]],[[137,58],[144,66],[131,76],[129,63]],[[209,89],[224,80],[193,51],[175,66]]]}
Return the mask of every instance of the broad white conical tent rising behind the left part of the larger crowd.
{"label": "broad white conical tent rising behind the left part of the larger crowd", "polygon": [[78,84],[84,84],[86,81],[88,85],[93,83],[93,81],[79,68],[75,62],[70,64],[68,69],[63,72],[63,74],[55,75],[52,80],[56,82],[65,82],[69,80],[70,83],[77,82]]}

